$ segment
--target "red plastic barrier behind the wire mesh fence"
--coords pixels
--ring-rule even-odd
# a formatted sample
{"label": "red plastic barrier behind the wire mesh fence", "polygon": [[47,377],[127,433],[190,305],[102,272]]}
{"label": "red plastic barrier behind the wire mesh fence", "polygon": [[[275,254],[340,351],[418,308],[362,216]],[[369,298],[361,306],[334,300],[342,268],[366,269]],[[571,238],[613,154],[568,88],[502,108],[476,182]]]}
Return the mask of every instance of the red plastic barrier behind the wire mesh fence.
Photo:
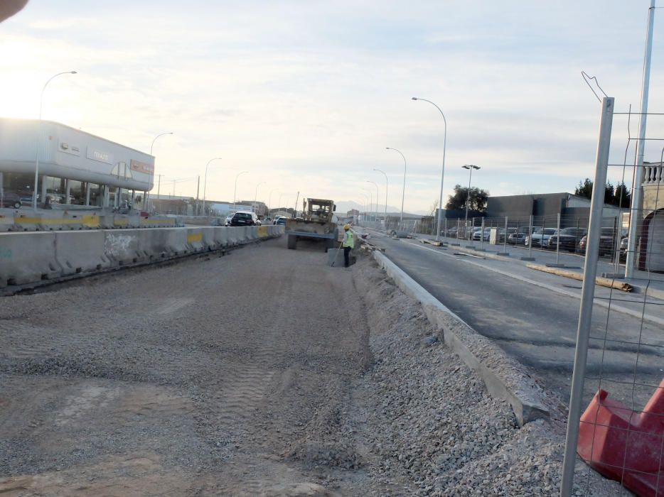
{"label": "red plastic barrier behind the wire mesh fence", "polygon": [[664,379],[643,411],[600,390],[579,423],[577,452],[641,497],[664,497]]}

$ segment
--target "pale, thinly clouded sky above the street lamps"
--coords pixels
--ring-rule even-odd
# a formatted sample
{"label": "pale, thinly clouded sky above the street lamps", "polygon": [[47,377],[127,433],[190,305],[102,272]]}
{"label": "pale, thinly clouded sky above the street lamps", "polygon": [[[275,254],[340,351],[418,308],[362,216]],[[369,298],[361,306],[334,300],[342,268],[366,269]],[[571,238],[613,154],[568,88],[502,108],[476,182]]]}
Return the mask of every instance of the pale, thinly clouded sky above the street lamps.
{"label": "pale, thinly clouded sky above the street lamps", "polygon": [[[0,116],[36,119],[45,82],[76,70],[48,84],[43,119],[148,153],[173,132],[154,141],[162,194],[195,197],[200,176],[201,198],[205,183],[209,200],[232,200],[237,178],[243,200],[379,197],[382,210],[380,169],[388,206],[404,193],[405,210],[424,213],[444,150],[444,202],[468,184],[464,164],[481,167],[472,184],[493,196],[574,192],[594,174],[599,126],[581,71],[617,111],[638,111],[649,5],[30,0],[0,23]],[[661,16],[650,112],[664,112]],[[630,127],[636,136],[633,116]],[[664,138],[664,116],[650,116],[648,137]],[[610,163],[623,164],[627,145],[627,117],[615,116]],[[649,141],[646,160],[660,146]],[[405,155],[405,190],[404,161],[386,147]]]}

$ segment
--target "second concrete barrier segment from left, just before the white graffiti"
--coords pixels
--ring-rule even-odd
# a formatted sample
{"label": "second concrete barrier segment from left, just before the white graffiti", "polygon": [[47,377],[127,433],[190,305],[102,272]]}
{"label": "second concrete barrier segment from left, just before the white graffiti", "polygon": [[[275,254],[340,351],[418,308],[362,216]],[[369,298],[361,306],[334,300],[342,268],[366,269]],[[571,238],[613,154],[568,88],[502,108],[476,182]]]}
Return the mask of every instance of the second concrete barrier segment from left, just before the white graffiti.
{"label": "second concrete barrier segment from left, just before the white graffiti", "polygon": [[55,261],[62,275],[93,273],[111,266],[105,254],[104,231],[59,231],[55,234]]}

